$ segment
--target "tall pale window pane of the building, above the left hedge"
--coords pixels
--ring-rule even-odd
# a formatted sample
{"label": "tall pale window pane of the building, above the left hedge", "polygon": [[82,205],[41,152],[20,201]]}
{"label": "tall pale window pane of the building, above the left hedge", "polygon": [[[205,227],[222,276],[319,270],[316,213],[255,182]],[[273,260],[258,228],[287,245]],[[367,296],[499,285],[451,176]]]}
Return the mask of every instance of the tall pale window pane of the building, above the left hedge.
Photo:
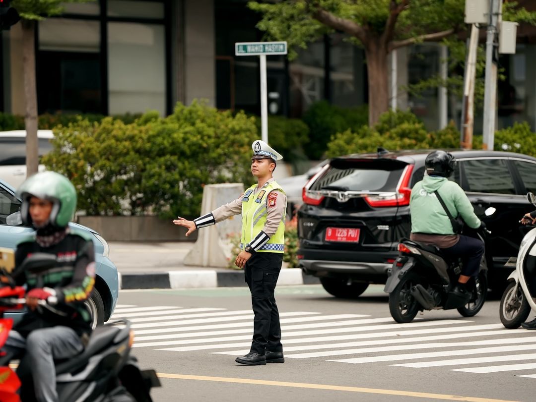
{"label": "tall pale window pane of the building, above the left hedge", "polygon": [[166,113],[163,25],[108,23],[110,115],[158,110]]}

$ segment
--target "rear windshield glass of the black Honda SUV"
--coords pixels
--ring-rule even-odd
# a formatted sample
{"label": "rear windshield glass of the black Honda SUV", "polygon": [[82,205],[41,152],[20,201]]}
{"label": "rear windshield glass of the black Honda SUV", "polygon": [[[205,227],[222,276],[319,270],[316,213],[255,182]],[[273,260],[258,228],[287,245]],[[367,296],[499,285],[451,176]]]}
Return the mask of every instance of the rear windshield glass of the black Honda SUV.
{"label": "rear windshield glass of the black Honda SUV", "polygon": [[311,190],[396,191],[404,169],[336,169],[331,167],[311,186]]}

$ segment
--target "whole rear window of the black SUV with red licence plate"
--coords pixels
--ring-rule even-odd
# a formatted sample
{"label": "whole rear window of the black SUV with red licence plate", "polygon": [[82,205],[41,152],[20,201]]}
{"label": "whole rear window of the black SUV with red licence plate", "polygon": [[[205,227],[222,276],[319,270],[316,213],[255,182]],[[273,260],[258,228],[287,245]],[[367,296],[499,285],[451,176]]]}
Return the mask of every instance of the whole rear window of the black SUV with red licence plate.
{"label": "whole rear window of the black SUV with red licence plate", "polygon": [[[384,168],[384,169],[382,169]],[[312,191],[396,191],[404,163],[352,162],[334,160],[329,169],[309,188]]]}

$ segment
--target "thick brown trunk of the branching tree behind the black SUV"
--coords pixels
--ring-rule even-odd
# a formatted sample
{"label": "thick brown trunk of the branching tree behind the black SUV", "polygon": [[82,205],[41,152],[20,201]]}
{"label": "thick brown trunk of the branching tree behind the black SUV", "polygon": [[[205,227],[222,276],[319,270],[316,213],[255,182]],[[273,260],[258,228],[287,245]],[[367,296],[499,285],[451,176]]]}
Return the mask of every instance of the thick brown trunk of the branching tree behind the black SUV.
{"label": "thick brown trunk of the branching tree behind the black SUV", "polygon": [[387,49],[372,40],[365,46],[369,85],[369,125],[378,122],[379,115],[389,110],[389,89],[387,82]]}

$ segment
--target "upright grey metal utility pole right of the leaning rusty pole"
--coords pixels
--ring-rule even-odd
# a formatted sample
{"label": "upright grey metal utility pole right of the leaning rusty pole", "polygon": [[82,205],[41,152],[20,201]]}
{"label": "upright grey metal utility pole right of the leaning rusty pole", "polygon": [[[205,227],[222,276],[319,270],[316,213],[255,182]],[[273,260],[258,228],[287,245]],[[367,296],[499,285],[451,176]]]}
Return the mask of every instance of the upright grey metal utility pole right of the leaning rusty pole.
{"label": "upright grey metal utility pole right of the leaning rusty pole", "polygon": [[484,92],[484,122],[482,148],[493,149],[495,140],[495,118],[497,115],[497,65],[493,60],[495,36],[502,12],[502,0],[490,0],[490,17],[486,39],[486,88]]}

